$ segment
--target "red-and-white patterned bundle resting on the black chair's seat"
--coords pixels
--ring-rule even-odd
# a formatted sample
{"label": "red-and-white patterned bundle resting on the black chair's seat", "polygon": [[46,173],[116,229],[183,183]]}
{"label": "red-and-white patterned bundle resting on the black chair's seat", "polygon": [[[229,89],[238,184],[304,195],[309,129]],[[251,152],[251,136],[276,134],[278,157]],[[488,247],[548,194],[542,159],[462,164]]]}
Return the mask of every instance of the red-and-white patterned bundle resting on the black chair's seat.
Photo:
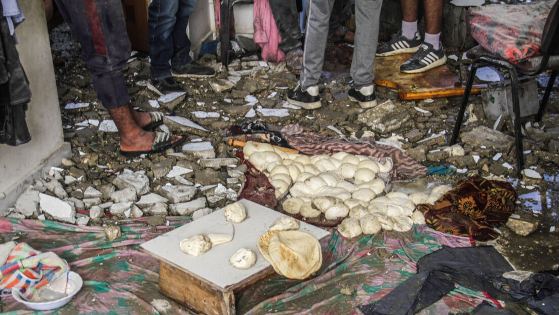
{"label": "red-and-white patterned bundle resting on the black chair's seat", "polygon": [[543,26],[554,3],[540,0],[472,7],[468,27],[485,50],[518,64],[538,54]]}

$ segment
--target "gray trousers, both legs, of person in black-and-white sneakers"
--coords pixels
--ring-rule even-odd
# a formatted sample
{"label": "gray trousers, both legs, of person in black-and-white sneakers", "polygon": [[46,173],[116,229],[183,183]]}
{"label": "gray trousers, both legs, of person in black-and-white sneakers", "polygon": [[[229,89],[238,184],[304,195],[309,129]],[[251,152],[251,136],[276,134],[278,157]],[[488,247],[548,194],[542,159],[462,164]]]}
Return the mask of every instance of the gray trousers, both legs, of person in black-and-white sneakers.
{"label": "gray trousers, both legs, of person in black-and-white sneakers", "polygon": [[[307,26],[301,88],[306,90],[318,84],[328,37],[330,13],[334,0],[308,0]],[[356,34],[350,74],[353,87],[360,89],[373,84],[373,65],[378,43],[378,25],[382,0],[356,0]]]}

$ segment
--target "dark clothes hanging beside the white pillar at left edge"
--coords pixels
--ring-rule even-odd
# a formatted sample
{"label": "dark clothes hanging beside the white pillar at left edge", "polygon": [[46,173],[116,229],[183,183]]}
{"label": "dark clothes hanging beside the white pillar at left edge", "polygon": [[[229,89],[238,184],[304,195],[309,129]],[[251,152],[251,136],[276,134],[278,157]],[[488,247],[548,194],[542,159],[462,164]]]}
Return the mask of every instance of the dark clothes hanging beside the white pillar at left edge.
{"label": "dark clothes hanging beside the white pillar at left edge", "polygon": [[[0,3],[0,143],[17,146],[31,140],[25,121],[31,90],[10,23],[4,16],[4,1]],[[18,16],[16,21],[21,22],[22,17]]]}

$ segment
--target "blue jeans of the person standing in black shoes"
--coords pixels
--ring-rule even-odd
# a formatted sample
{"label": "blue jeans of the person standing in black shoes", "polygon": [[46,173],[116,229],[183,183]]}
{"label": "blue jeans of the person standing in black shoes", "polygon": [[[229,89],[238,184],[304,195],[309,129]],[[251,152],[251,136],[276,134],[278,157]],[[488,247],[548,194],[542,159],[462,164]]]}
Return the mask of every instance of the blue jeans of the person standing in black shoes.
{"label": "blue jeans of the person standing in black shoes", "polygon": [[196,0],[151,1],[148,9],[151,79],[170,77],[171,67],[180,67],[192,62],[191,44],[186,35],[186,27],[188,17],[195,6]]}

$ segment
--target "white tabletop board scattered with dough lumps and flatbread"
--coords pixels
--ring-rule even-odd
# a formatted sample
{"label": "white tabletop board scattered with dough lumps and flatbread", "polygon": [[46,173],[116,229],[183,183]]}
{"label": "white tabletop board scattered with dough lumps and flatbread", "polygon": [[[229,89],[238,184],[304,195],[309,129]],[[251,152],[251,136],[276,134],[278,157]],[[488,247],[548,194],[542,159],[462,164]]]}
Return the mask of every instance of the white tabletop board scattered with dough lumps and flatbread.
{"label": "white tabletop board scattered with dough lumps and flatbread", "polygon": [[[235,234],[233,241],[229,243],[214,246],[197,257],[188,255],[179,248],[179,243],[184,238],[197,234],[207,236],[209,232],[215,232],[215,228],[212,227],[225,224],[227,221],[223,209],[220,209],[140,246],[153,255],[172,262],[220,288],[225,289],[227,286],[237,284],[270,265],[258,250],[258,238],[268,232],[269,226],[277,218],[286,216],[249,200],[243,199],[238,202],[247,209],[247,218],[241,223],[233,223]],[[317,239],[330,235],[328,231],[305,222],[301,222],[299,231],[309,233]],[[229,264],[231,255],[241,247],[250,248],[257,256],[256,263],[249,269],[240,270]]]}

